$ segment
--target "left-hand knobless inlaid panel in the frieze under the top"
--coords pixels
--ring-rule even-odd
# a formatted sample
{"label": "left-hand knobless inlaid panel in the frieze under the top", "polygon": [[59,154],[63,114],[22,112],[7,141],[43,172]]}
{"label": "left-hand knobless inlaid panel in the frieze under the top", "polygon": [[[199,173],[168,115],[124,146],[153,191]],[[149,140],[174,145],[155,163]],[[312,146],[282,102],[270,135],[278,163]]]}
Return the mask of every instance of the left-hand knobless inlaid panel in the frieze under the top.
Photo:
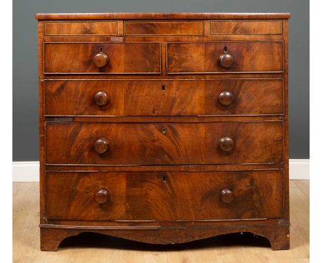
{"label": "left-hand knobless inlaid panel in the frieze under the top", "polygon": [[117,36],[118,21],[45,22],[46,36]]}

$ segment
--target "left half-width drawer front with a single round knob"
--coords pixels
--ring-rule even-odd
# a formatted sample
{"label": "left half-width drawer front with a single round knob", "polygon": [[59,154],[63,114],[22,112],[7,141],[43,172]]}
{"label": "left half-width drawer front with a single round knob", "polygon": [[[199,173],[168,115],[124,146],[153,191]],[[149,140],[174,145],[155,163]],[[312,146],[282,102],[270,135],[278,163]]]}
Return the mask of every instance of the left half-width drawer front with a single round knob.
{"label": "left half-width drawer front with a single round knob", "polygon": [[160,43],[44,43],[45,74],[160,74]]}

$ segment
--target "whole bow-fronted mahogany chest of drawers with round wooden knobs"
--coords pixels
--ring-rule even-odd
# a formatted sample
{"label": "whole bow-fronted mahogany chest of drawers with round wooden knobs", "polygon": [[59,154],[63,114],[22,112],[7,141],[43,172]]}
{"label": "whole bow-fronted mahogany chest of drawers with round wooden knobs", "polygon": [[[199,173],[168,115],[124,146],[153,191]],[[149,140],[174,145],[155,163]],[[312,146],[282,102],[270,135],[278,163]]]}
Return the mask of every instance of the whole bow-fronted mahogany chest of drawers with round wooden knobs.
{"label": "whole bow-fronted mahogany chest of drawers with round wooden knobs", "polygon": [[96,232],[288,249],[290,14],[36,14],[41,249]]}

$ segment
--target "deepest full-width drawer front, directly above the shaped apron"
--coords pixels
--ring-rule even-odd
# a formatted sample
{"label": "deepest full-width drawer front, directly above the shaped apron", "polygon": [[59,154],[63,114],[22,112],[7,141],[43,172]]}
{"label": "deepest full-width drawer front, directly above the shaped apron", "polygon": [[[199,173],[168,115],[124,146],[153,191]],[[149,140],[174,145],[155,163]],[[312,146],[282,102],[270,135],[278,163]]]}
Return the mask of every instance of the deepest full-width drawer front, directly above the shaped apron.
{"label": "deepest full-width drawer front, directly above the shaped apron", "polygon": [[46,172],[51,220],[281,218],[283,173]]}

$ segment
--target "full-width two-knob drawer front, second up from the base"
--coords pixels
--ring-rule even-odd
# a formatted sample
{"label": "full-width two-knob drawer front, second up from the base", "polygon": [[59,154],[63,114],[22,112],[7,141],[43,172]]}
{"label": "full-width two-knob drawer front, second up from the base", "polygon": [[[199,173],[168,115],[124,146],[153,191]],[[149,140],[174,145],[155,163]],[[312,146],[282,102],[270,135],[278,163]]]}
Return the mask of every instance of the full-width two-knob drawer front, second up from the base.
{"label": "full-width two-knob drawer front, second up from the base", "polygon": [[279,163],[283,122],[47,122],[45,147],[47,164]]}

